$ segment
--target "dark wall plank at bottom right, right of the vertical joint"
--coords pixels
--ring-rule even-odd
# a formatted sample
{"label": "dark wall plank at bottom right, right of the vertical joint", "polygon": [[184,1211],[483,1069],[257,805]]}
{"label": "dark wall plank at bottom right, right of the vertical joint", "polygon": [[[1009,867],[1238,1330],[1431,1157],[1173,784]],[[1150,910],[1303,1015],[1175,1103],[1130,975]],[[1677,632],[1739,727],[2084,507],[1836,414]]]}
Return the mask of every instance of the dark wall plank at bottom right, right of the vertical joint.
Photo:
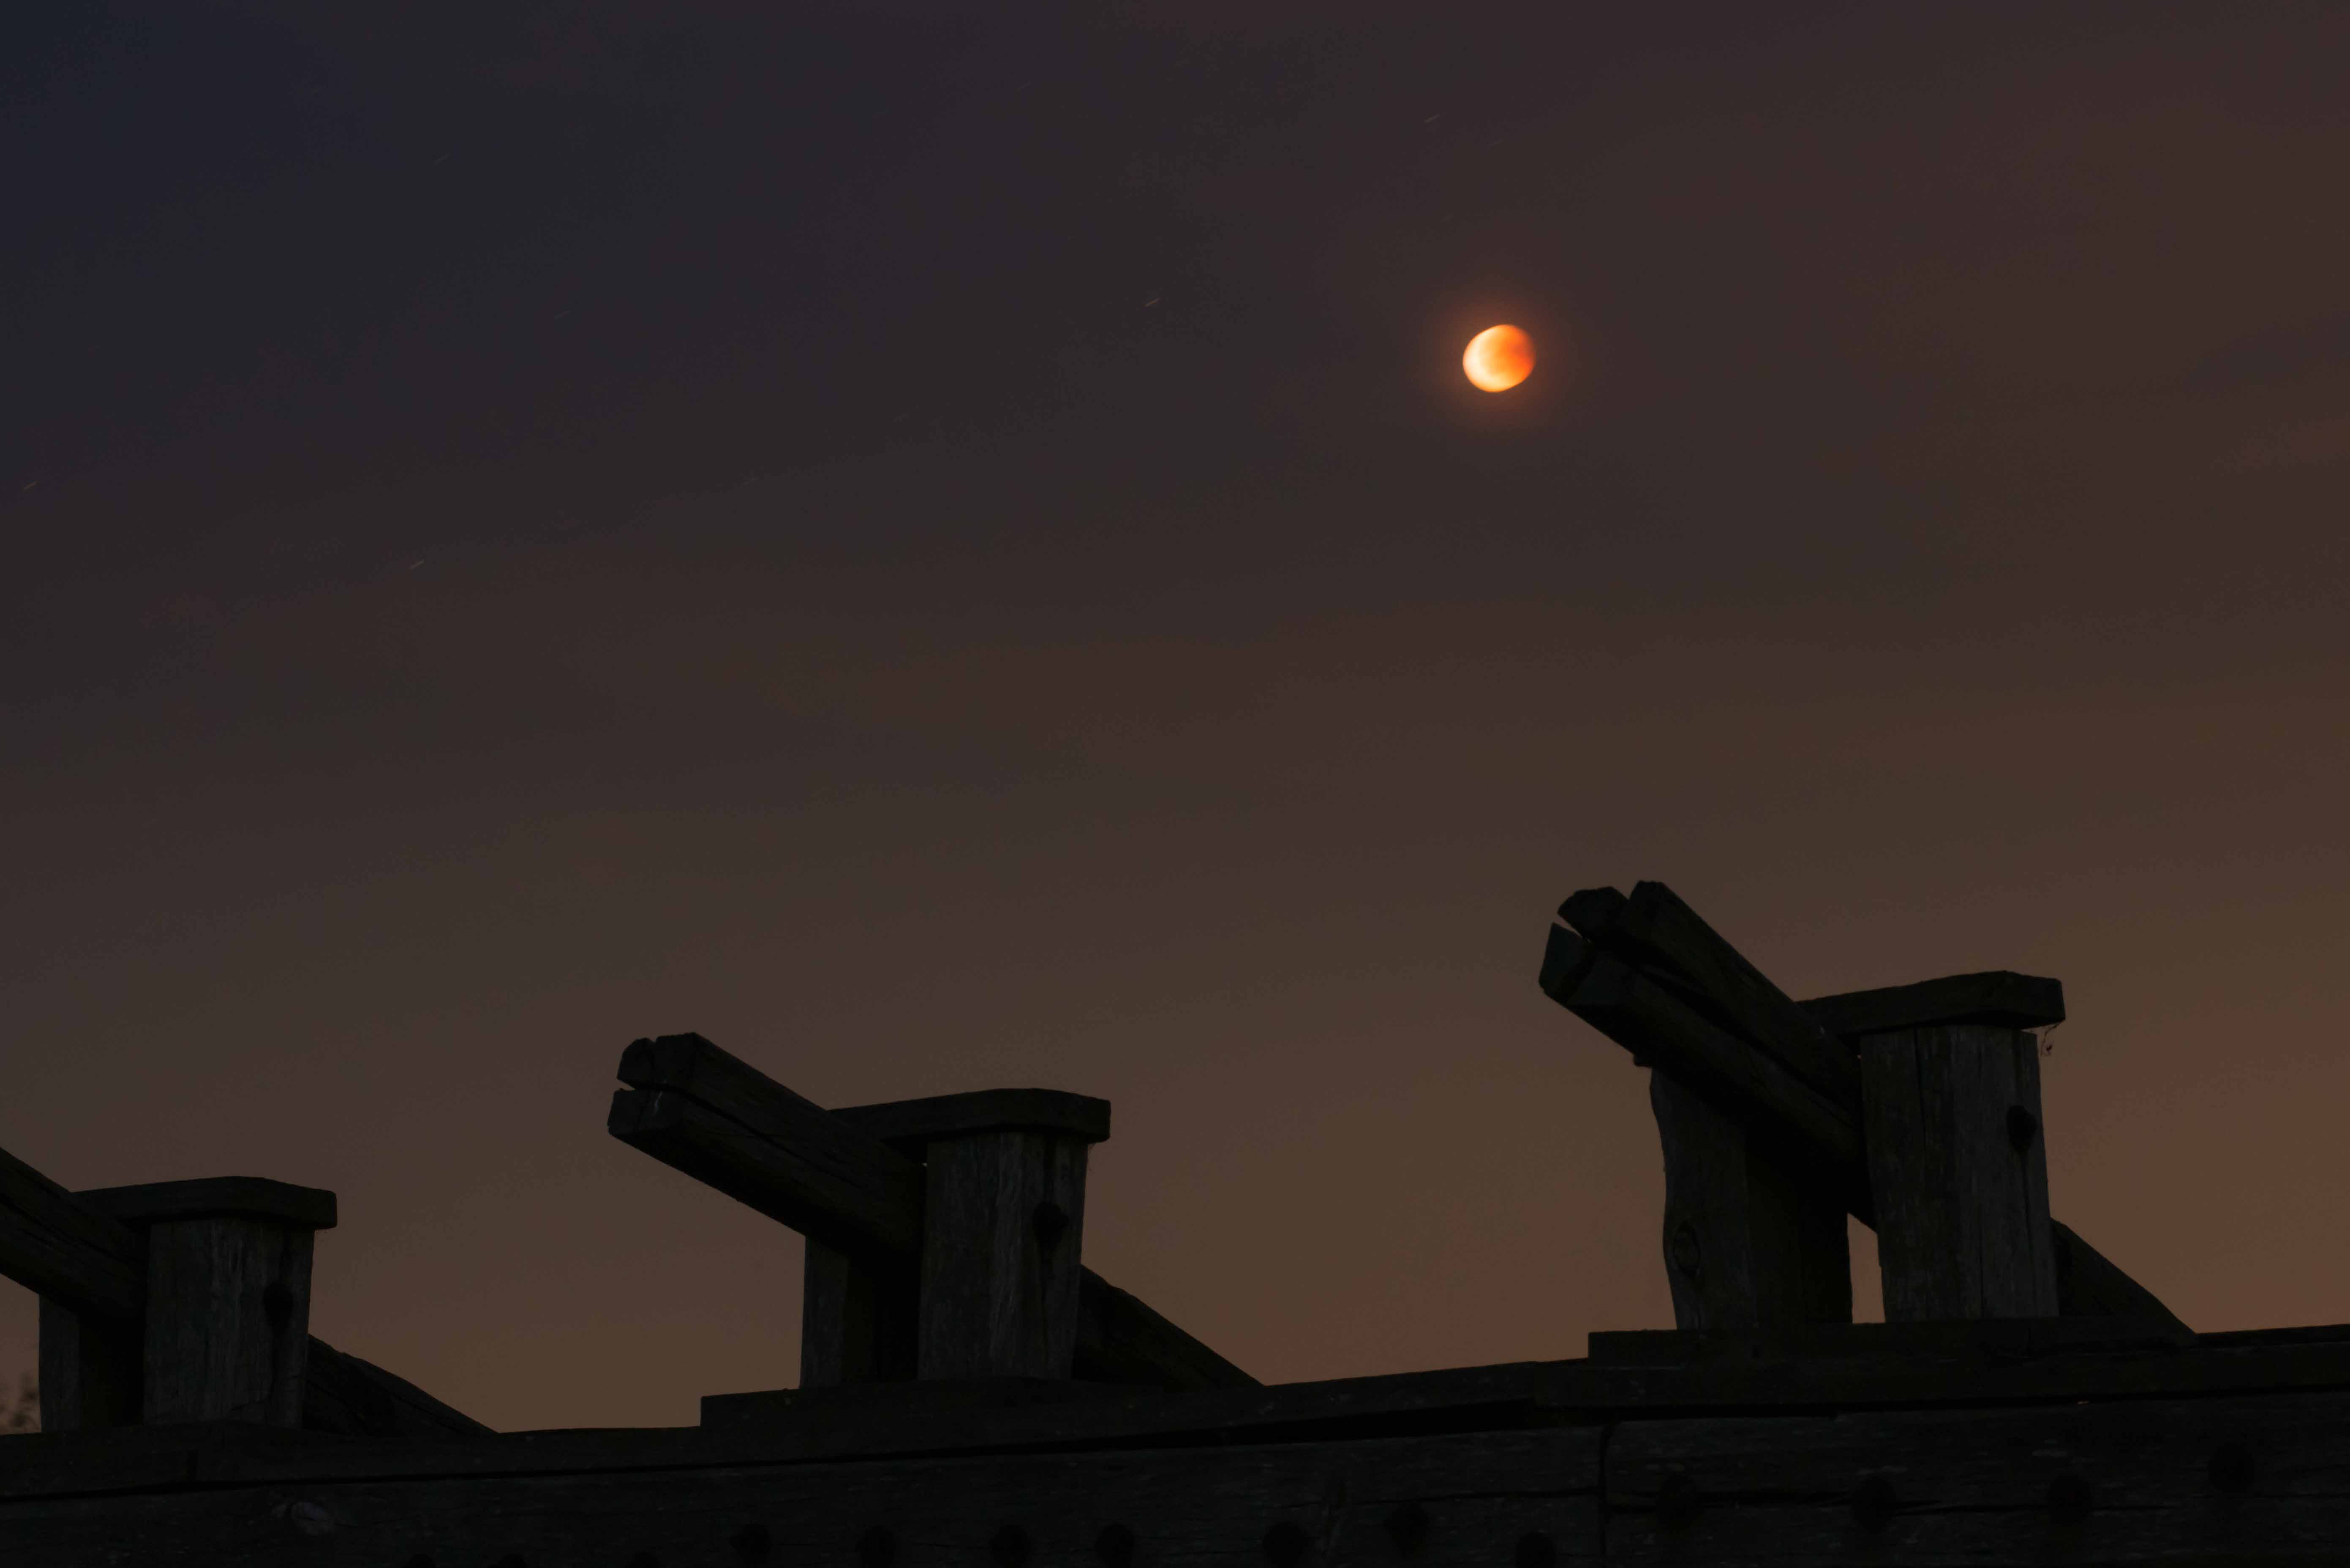
{"label": "dark wall plank at bottom right, right of the vertical joint", "polygon": [[1624,1422],[1626,1563],[2341,1563],[2350,1394]]}

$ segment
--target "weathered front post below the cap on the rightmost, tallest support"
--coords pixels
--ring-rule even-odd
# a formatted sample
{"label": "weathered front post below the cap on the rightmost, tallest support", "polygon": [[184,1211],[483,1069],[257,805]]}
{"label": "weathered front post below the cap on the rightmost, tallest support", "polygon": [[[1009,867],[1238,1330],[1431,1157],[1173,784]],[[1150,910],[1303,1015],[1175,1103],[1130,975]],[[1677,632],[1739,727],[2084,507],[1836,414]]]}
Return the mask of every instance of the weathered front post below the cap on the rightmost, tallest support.
{"label": "weathered front post below the cap on the rightmost, tallest support", "polygon": [[1885,1319],[2056,1316],[2035,1037],[1939,1023],[1856,1044]]}

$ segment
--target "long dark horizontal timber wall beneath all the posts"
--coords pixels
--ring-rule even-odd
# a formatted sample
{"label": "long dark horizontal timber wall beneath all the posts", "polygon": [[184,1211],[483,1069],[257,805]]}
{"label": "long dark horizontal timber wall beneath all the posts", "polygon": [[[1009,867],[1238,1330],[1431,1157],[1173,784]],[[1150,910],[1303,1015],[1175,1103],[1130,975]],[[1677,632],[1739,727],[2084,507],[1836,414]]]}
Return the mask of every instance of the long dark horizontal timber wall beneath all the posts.
{"label": "long dark horizontal timber wall beneath all the posts", "polygon": [[2350,1561],[2350,1340],[2049,1349],[2009,1326],[1856,1328],[1802,1356],[1596,1349],[1196,1394],[743,1406],[686,1429],[16,1436],[0,1561]]}

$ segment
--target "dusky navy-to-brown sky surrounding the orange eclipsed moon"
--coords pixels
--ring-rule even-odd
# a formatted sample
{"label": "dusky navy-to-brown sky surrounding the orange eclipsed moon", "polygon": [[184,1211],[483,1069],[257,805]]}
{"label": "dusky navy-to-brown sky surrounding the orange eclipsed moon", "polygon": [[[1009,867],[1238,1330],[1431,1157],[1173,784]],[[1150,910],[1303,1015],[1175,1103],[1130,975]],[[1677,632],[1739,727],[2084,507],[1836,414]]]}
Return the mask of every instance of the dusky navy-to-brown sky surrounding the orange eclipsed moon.
{"label": "dusky navy-to-brown sky surrounding the orange eclipsed moon", "polygon": [[2345,1319],[2345,63],[9,7],[0,1147],[338,1190],[317,1333],[498,1427],[794,1375],[797,1241],[602,1131],[670,1030],[1112,1098],[1088,1262],[1264,1378],[1570,1356],[1661,1173],[1532,976],[1661,877],[1798,994],[2061,976],[2056,1211]]}

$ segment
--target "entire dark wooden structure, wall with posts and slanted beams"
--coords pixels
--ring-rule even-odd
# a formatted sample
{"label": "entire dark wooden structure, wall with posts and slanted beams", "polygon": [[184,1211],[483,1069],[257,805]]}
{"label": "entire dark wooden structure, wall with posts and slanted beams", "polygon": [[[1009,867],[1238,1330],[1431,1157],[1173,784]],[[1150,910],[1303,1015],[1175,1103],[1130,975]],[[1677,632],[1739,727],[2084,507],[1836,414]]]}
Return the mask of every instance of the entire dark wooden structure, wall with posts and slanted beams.
{"label": "entire dark wooden structure, wall with posts and slanted beams", "polygon": [[2350,1561],[2350,1328],[2195,1335],[2049,1218],[2054,980],[1793,1001],[1661,884],[1560,919],[1542,990],[1652,1070],[1671,1331],[1260,1387],[1083,1267],[1107,1103],[827,1112],[672,1034],[609,1131],[806,1237],[799,1387],[494,1434],[308,1335],[334,1194],[0,1157],[47,1425],[0,1563]]}

